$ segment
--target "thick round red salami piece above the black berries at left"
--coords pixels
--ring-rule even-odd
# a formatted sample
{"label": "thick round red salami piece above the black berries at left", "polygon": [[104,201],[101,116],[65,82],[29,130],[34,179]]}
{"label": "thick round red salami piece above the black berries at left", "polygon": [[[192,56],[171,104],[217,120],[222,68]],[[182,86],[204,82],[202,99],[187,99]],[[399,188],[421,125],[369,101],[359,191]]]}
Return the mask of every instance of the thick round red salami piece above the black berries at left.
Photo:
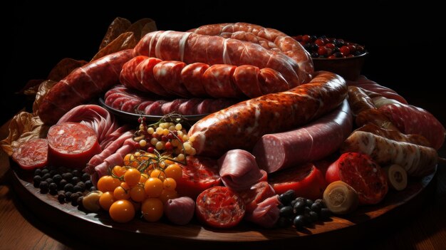
{"label": "thick round red salami piece above the black berries at left", "polygon": [[100,153],[98,138],[81,123],[60,123],[48,130],[48,162],[56,166],[84,168]]}

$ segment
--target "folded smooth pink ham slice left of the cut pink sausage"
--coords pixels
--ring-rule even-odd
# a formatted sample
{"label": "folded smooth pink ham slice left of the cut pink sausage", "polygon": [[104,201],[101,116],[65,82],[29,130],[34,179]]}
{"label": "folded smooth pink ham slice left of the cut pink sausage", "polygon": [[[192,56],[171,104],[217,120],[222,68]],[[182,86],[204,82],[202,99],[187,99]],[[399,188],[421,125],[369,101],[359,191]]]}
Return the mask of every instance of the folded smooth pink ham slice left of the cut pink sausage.
{"label": "folded smooth pink ham slice left of the cut pink sausage", "polygon": [[219,174],[226,187],[235,191],[249,189],[253,184],[266,179],[256,159],[246,150],[229,150],[218,160]]}

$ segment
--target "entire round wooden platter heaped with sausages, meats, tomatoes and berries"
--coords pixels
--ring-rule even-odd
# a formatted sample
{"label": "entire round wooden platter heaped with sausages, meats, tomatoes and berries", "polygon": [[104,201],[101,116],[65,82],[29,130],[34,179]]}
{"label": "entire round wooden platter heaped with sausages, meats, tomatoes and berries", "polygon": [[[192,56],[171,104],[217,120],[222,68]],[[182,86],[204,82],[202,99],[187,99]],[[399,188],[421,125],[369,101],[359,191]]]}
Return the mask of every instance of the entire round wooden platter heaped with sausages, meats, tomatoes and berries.
{"label": "entire round wooden platter heaped with sausages, meats, tomatoes and berries", "polygon": [[418,204],[446,135],[394,90],[313,66],[366,53],[256,24],[118,18],[89,63],[33,83],[1,147],[24,202],[90,241],[359,240]]}

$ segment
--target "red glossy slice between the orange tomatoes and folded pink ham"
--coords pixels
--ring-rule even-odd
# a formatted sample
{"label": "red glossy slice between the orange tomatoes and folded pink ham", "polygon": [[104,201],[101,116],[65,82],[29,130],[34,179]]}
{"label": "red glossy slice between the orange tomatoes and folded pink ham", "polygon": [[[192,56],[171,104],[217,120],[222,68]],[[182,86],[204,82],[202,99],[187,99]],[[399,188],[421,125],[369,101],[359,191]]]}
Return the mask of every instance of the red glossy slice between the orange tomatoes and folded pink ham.
{"label": "red glossy slice between the orange tomatoes and folded pink ham", "polygon": [[198,194],[209,187],[222,184],[218,173],[217,160],[207,157],[187,157],[187,165],[182,165],[182,178],[177,180],[180,196],[196,199]]}

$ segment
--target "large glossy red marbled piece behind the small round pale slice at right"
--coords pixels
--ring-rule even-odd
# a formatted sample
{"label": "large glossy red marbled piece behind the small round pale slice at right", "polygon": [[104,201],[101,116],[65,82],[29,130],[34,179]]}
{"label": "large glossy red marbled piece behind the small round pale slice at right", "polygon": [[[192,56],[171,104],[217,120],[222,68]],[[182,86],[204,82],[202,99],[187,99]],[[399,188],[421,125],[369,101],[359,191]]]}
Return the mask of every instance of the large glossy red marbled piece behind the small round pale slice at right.
{"label": "large glossy red marbled piece behind the small round pale slice at right", "polygon": [[368,155],[346,152],[333,164],[341,181],[358,192],[359,204],[377,204],[388,192],[385,173]]}

